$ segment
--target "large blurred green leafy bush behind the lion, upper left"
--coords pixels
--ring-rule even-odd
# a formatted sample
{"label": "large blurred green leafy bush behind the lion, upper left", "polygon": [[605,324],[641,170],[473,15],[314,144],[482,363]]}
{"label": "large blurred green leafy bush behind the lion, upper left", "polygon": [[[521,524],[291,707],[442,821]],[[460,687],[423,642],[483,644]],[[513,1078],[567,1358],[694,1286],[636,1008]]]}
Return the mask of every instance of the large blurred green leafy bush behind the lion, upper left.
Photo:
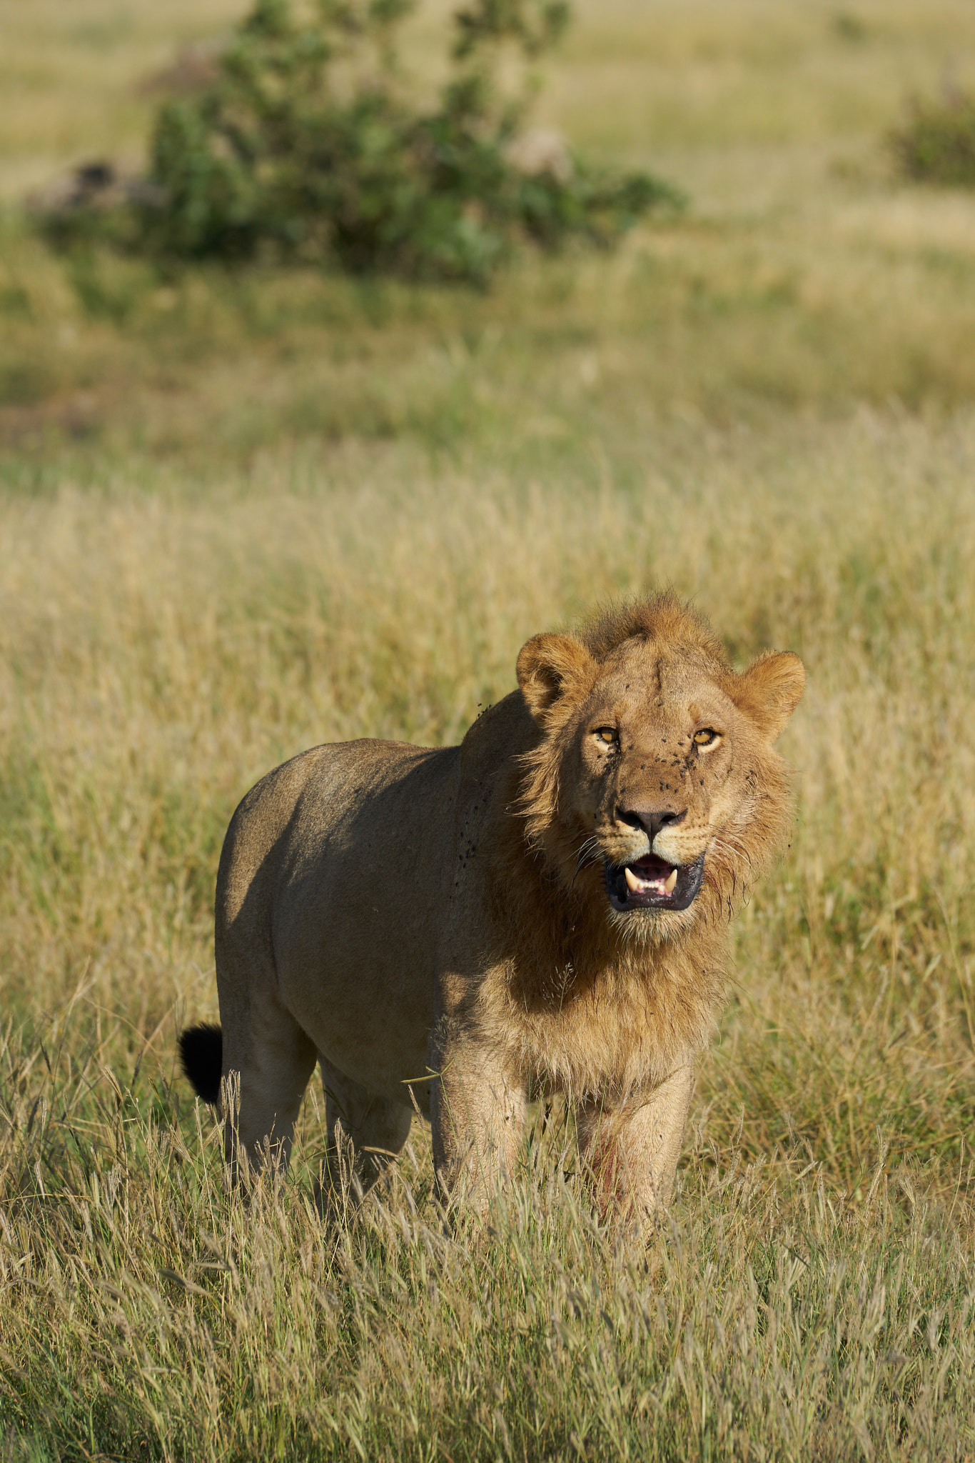
{"label": "large blurred green leafy bush behind the lion, upper left", "polygon": [[[164,257],[338,262],[354,272],[484,281],[517,238],[612,243],[672,189],[561,157],[525,165],[528,70],[563,0],[472,0],[452,66],[417,107],[396,60],[415,0],[256,0],[196,95],[165,102],[136,243]],[[512,53],[522,82],[504,94]],[[512,67],[506,64],[506,75]],[[118,230],[115,230],[118,237]]]}

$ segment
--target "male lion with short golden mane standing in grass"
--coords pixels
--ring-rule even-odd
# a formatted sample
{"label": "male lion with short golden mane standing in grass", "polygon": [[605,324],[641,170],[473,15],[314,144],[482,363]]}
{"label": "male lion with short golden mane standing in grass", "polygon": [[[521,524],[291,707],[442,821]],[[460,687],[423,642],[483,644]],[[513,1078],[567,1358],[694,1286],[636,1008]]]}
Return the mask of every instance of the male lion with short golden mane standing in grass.
{"label": "male lion with short golden mane standing in grass", "polygon": [[528,1099],[561,1091],[604,1204],[667,1204],[728,920],[786,835],[772,743],[803,663],[737,674],[667,593],[536,635],[517,682],[460,746],[319,746],[234,813],[222,1036],[180,1040],[209,1102],[240,1074],[231,1157],[287,1162],[317,1061],[365,1181],[418,1107],[441,1194],[482,1201]]}

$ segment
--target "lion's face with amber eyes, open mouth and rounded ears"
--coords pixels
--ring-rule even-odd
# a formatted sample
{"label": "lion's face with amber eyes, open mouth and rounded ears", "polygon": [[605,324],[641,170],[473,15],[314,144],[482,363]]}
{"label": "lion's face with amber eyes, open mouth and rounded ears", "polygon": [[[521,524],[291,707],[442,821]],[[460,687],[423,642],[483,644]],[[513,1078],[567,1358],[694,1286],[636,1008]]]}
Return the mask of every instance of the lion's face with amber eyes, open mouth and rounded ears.
{"label": "lion's face with amber eyes, open mouth and rounded ears", "polygon": [[724,900],[766,862],[788,813],[772,742],[803,693],[795,655],[735,674],[710,647],[633,636],[596,658],[572,636],[519,657],[542,727],[526,811],[534,841],[570,887],[583,879],[623,917],[665,933],[702,888]]}

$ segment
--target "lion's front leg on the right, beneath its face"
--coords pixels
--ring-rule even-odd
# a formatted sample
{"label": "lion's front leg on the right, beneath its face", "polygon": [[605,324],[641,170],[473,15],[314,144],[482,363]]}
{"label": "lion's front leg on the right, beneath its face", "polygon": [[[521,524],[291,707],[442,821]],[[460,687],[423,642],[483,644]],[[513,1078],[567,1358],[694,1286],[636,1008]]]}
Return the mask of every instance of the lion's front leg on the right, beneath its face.
{"label": "lion's front leg on the right, beneath its face", "polygon": [[667,1208],[693,1090],[688,1059],[659,1087],[620,1107],[579,1105],[579,1147],[604,1214],[618,1208],[640,1222]]}

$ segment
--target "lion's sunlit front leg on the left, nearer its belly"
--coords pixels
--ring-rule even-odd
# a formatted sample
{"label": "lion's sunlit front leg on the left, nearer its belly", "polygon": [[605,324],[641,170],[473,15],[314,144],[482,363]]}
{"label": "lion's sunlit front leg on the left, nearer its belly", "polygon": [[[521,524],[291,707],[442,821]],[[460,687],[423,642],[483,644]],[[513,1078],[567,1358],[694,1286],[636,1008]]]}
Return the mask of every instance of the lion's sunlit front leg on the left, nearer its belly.
{"label": "lion's sunlit front leg on the left, nearer its belly", "polygon": [[465,1039],[431,1062],[433,1160],[441,1198],[465,1197],[482,1213],[512,1173],[525,1127],[525,1088],[500,1053]]}

